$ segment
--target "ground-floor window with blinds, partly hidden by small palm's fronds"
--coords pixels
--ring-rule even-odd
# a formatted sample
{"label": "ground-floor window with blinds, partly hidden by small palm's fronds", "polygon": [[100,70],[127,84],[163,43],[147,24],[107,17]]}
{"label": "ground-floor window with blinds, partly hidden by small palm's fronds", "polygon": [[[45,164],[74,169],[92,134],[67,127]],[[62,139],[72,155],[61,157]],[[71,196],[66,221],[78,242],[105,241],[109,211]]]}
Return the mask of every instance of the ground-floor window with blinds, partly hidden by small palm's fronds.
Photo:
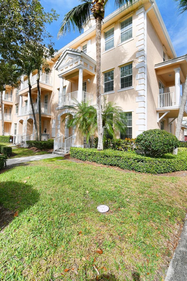
{"label": "ground-floor window with blinds, partly hidden by small palm's fronds", "polygon": [[120,138],[132,138],[132,112],[121,114],[121,121],[124,124],[125,132],[120,131]]}

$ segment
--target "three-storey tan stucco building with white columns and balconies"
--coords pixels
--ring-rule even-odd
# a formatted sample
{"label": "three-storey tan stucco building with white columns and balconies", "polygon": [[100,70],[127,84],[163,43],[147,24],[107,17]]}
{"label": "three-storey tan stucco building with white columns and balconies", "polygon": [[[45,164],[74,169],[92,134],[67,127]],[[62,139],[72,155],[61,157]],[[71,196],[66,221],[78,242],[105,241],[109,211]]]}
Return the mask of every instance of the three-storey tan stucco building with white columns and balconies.
{"label": "three-storey tan stucco building with white columns and balconies", "polygon": [[[42,139],[63,135],[63,143],[70,137],[72,146],[83,147],[82,134],[65,128],[68,109],[64,105],[73,104],[74,99],[96,103],[95,23],[60,49],[50,67],[51,72],[42,73],[40,82]],[[137,1],[133,8],[119,9],[104,19],[101,94],[127,113],[127,131],[119,132],[119,137],[135,138],[153,128],[175,133],[186,74],[187,55],[177,58],[155,1]],[[38,112],[36,73],[31,80]],[[22,77],[18,89],[7,87],[3,106],[5,133],[17,135],[17,141],[23,136],[34,138],[27,77]]]}

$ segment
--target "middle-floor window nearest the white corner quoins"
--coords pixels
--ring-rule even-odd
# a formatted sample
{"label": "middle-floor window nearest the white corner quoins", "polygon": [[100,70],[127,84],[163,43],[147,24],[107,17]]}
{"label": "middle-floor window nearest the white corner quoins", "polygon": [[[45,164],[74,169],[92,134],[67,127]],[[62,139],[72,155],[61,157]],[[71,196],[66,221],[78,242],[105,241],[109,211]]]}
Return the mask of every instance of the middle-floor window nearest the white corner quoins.
{"label": "middle-floor window nearest the white corner quoins", "polygon": [[121,89],[132,86],[132,64],[120,68]]}

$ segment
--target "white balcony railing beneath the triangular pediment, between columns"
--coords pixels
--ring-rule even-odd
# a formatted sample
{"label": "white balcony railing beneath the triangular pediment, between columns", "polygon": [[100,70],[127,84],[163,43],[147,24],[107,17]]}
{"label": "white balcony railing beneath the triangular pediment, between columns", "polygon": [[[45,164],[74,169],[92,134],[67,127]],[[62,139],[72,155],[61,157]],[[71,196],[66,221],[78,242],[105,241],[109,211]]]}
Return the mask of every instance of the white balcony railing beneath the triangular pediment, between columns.
{"label": "white balcony railing beneath the triangular pediment, between columns", "polygon": [[[63,106],[65,105],[75,105],[76,101],[78,99],[78,91],[71,92],[68,94],[63,95]],[[93,105],[93,95],[87,92],[82,92],[82,100],[88,105]]]}

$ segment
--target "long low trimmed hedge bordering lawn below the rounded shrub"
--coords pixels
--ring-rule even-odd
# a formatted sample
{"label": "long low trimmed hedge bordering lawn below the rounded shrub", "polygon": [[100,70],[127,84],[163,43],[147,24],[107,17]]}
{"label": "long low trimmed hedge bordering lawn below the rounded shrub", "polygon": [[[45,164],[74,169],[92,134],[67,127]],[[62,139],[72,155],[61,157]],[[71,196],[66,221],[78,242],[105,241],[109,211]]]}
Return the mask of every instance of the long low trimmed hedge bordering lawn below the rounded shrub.
{"label": "long low trimmed hedge bordering lawn below the rounded shrub", "polygon": [[170,154],[165,155],[165,157],[151,158],[137,155],[134,152],[122,152],[111,149],[97,151],[91,148],[71,147],[70,156],[83,161],[116,166],[141,173],[162,174],[187,170],[186,148],[179,148],[178,155]]}

